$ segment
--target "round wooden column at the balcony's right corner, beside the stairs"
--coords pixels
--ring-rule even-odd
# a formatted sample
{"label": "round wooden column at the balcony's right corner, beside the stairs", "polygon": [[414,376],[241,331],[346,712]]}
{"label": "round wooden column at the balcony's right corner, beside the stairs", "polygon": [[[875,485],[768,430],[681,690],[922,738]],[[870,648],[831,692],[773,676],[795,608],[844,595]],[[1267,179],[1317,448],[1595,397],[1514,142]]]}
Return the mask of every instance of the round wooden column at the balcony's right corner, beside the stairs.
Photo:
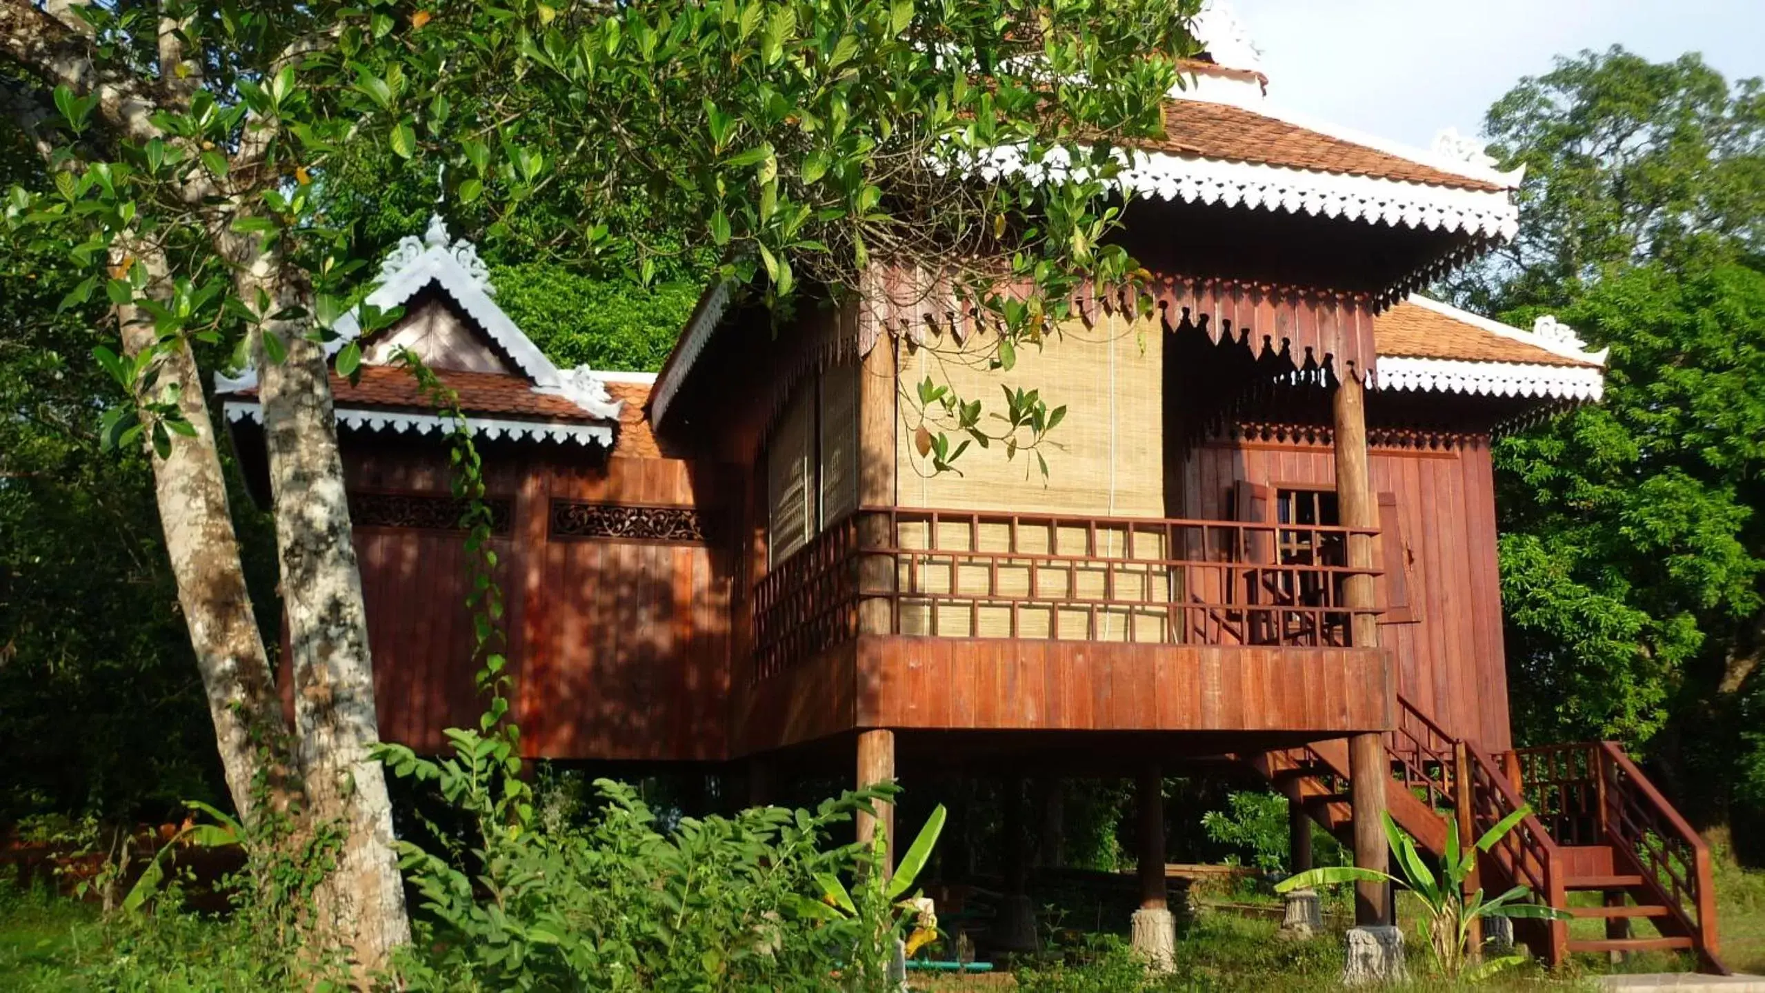
{"label": "round wooden column at the balcony's right corner, beside the stairs", "polygon": [[[1345,527],[1378,527],[1378,501],[1373,496],[1366,464],[1366,386],[1350,369],[1336,385],[1333,399],[1333,436],[1336,439],[1336,511]],[[1348,566],[1373,568],[1373,540],[1356,534],[1348,538]],[[1343,580],[1343,605],[1350,610],[1377,607],[1371,575],[1350,575]],[[1371,614],[1354,614],[1350,638],[1356,647],[1378,647],[1378,619]],[[1350,686],[1350,691],[1357,688]],[[1354,806],[1354,864],[1364,870],[1387,871],[1391,866],[1386,847],[1386,781],[1391,765],[1386,760],[1384,734],[1357,734],[1348,739],[1348,799]],[[1375,926],[1391,922],[1391,889],[1378,882],[1354,885],[1354,922]]]}

